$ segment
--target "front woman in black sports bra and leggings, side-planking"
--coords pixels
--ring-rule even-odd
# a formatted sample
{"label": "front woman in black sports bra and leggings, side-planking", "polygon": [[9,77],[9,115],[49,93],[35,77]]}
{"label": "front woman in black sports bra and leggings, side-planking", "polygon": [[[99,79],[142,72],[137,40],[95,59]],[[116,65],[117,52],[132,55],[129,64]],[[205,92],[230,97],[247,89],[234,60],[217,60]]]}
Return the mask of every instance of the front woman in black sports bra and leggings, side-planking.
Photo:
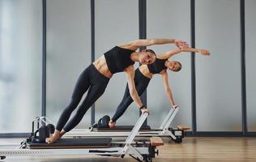
{"label": "front woman in black sports bra and leggings, side-planking", "polygon": [[[147,108],[143,106],[135,88],[134,62],[140,62],[143,65],[151,64],[155,62],[156,53],[148,49],[142,52],[136,52],[136,50],[143,46],[170,43],[177,46],[186,45],[186,42],[174,39],[134,40],[125,45],[115,46],[113,49],[104,53],[104,55],[79,75],[70,104],[67,105],[59,117],[54,134],[50,138],[45,139],[45,142],[53,143],[60,139],[63,134],[77,126],[87,112],[87,109],[105,92],[109,79],[117,72],[126,72],[131,98],[138,104],[139,109],[143,113],[148,112]],[[79,105],[74,117],[70,118],[71,113],[76,109],[85,92],[87,92],[87,96],[82,104]]]}

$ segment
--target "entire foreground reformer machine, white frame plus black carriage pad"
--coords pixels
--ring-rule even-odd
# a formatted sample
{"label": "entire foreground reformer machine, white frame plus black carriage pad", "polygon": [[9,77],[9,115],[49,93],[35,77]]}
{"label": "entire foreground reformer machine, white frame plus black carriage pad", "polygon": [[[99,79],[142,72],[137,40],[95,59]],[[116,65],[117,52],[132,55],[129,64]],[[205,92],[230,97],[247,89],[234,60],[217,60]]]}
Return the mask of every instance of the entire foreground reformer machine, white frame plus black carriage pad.
{"label": "entire foreground reformer machine, white frame plus black carriage pad", "polygon": [[[6,156],[99,155],[123,158],[125,155],[129,155],[137,161],[152,161],[155,154],[158,155],[156,147],[164,145],[162,140],[160,138],[156,139],[155,137],[151,141],[140,140],[139,142],[134,142],[134,138],[146,120],[147,115],[148,113],[143,113],[139,117],[139,120],[134,125],[133,130],[131,130],[125,142],[115,143],[111,138],[85,138],[79,140],[62,138],[52,144],[24,141],[19,148],[1,149],[0,157],[3,160]],[[93,143],[96,143],[96,146]]]}

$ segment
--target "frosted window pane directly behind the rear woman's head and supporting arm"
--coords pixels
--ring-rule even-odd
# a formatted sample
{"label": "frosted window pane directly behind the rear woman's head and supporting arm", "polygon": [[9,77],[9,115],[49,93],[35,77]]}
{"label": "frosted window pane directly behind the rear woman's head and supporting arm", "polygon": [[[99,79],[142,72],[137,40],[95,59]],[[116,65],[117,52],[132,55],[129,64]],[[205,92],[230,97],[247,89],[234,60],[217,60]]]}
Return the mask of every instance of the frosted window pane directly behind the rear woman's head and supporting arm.
{"label": "frosted window pane directly behind the rear woman's head and supporting arm", "polygon": [[[176,38],[190,42],[190,0],[147,1],[147,38]],[[175,45],[148,47],[156,53],[164,53],[175,48]],[[177,60],[182,64],[182,70],[177,73],[168,70],[169,86],[176,104],[181,108],[172,124],[191,126],[190,53],[180,53],[169,60]],[[171,109],[160,75],[154,75],[147,87],[147,105],[151,111],[148,117],[149,125],[159,127]]]}

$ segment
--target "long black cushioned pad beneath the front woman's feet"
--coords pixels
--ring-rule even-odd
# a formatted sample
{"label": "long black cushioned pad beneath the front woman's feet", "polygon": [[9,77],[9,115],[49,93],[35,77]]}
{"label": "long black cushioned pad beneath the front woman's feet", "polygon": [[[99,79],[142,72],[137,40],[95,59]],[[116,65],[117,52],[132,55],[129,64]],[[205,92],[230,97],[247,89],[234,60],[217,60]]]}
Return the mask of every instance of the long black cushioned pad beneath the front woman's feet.
{"label": "long black cushioned pad beneath the front woman's feet", "polygon": [[28,148],[102,148],[109,147],[111,138],[59,139],[55,143],[31,143]]}

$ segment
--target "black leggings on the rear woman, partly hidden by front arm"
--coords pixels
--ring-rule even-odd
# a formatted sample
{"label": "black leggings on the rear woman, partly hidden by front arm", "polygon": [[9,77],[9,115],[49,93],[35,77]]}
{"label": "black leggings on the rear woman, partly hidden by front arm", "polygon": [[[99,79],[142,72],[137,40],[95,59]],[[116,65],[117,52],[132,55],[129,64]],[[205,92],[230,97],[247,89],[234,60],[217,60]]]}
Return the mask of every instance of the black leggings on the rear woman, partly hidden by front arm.
{"label": "black leggings on the rear woman, partly hidden by front arm", "polygon": [[[144,76],[140,72],[139,68],[137,68],[137,70],[135,70],[134,83],[139,96],[141,96],[143,92],[147,89],[147,85],[149,82],[150,79]],[[116,113],[112,117],[113,122],[116,122],[117,119],[121,117],[123,113],[125,113],[126,109],[133,101],[134,100],[130,96],[129,87],[127,84],[125,95],[123,96],[121,103],[118,105]]]}

